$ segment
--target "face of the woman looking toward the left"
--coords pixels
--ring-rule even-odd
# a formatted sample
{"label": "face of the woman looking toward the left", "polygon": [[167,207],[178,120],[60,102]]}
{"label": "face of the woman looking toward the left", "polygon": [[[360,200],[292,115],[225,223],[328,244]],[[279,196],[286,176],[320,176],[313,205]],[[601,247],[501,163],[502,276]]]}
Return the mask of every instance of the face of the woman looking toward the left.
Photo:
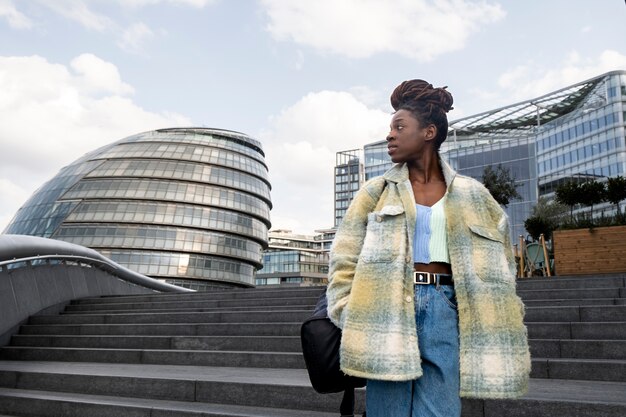
{"label": "face of the woman looking toward the left", "polygon": [[387,153],[394,163],[419,159],[424,150],[432,146],[437,134],[434,125],[421,126],[411,112],[404,109],[394,113],[389,127]]}

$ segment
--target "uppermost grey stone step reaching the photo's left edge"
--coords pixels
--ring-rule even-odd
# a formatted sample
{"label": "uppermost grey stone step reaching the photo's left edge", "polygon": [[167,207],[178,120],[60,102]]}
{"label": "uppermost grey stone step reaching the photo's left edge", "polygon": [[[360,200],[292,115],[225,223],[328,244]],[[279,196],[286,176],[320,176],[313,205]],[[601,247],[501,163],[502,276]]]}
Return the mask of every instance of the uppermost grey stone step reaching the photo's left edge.
{"label": "uppermost grey stone step reaching the photo's left edge", "polygon": [[63,347],[0,348],[0,360],[304,368],[300,352],[248,352],[170,349],[104,349]]}

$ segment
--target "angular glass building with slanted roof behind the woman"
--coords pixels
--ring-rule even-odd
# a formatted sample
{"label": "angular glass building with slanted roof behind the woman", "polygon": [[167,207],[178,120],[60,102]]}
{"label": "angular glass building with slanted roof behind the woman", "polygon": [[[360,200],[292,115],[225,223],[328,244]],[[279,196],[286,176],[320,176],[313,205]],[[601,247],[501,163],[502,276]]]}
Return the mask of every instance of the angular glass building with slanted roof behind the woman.
{"label": "angular glass building with slanted roof behind the woman", "polygon": [[[507,168],[522,196],[506,208],[512,236],[526,235],[524,221],[532,207],[539,197],[553,198],[559,184],[624,175],[625,120],[626,71],[612,71],[452,121],[441,155],[459,173],[479,181],[487,166]],[[385,141],[365,145],[363,153],[366,179],[392,166]],[[614,210],[610,204],[599,208]]]}

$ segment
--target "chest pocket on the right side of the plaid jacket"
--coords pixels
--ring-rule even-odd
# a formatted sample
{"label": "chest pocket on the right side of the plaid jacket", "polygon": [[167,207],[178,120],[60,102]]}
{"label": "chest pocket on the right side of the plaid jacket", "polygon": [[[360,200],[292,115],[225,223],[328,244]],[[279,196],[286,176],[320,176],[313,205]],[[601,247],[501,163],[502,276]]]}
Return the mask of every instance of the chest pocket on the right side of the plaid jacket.
{"label": "chest pocket on the right side of the plaid jacket", "polygon": [[472,266],[483,281],[508,281],[509,269],[504,237],[495,228],[469,225],[472,238]]}

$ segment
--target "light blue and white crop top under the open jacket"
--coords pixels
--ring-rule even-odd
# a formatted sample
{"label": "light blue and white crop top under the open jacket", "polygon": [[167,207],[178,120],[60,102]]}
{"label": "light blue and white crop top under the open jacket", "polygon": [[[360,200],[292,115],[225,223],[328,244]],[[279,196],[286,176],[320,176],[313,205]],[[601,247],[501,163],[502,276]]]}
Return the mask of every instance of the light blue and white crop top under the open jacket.
{"label": "light blue and white crop top under the open jacket", "polygon": [[432,207],[415,204],[417,211],[413,235],[413,262],[415,263],[450,263],[444,212],[445,198],[444,195]]}

